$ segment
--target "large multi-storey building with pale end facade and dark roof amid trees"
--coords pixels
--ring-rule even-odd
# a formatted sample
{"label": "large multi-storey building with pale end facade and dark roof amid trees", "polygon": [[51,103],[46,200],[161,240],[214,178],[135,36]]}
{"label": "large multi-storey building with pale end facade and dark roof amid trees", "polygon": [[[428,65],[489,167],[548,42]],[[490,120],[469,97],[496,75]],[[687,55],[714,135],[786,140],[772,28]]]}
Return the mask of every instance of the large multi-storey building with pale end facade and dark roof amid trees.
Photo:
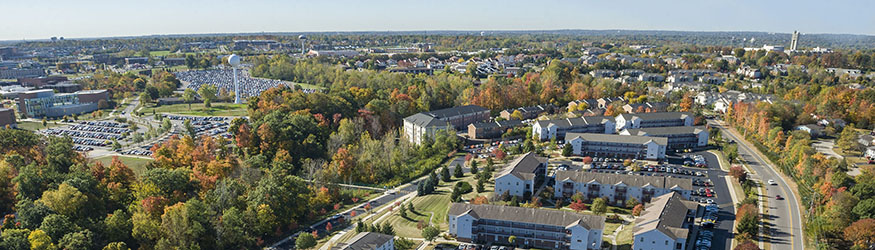
{"label": "large multi-storey building with pale end facade and dark roof amid trees", "polygon": [[438,131],[466,129],[468,124],[489,119],[489,109],[467,105],[448,109],[422,112],[404,118],[404,135],[410,142],[422,143],[426,137],[434,138]]}

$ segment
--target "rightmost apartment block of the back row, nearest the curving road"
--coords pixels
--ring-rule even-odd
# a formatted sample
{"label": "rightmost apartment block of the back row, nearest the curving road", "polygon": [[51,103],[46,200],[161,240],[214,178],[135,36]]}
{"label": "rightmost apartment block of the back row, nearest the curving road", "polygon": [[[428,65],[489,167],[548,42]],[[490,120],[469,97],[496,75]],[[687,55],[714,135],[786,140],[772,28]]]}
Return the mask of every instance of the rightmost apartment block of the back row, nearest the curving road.
{"label": "rightmost apartment block of the back row, nearest the curving road", "polygon": [[708,129],[705,126],[679,126],[657,128],[631,128],[620,131],[621,135],[665,137],[668,149],[688,149],[708,145]]}

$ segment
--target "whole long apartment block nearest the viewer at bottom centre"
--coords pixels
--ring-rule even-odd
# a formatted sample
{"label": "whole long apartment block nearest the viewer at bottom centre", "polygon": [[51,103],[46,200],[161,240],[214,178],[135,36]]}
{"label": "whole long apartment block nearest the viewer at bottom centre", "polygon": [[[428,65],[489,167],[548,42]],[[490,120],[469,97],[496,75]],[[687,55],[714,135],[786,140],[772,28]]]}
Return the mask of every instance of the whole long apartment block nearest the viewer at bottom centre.
{"label": "whole long apartment block nearest the viewer at bottom centre", "polygon": [[449,234],[462,242],[539,249],[600,249],[605,217],[570,211],[453,203]]}

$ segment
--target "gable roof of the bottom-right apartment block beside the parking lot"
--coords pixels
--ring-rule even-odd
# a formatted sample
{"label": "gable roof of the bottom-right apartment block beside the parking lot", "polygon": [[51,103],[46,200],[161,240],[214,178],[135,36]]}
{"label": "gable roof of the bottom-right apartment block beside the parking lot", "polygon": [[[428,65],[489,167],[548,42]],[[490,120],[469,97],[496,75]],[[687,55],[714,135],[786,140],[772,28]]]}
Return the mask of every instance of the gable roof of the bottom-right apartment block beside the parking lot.
{"label": "gable roof of the bottom-right apartment block beside the parking lot", "polygon": [[638,235],[656,229],[674,240],[686,239],[689,234],[689,229],[684,227],[687,211],[697,207],[698,204],[674,192],[657,196],[635,219],[633,232]]}

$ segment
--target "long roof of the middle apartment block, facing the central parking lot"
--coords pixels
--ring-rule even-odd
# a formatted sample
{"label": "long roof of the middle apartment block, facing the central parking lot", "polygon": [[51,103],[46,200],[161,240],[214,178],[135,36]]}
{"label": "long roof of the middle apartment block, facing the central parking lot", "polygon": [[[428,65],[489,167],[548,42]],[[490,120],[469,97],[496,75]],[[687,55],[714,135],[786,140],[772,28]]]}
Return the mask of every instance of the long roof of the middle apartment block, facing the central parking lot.
{"label": "long roof of the middle apartment block, facing the central parking lot", "polygon": [[589,183],[592,181],[616,185],[623,183],[630,187],[644,187],[647,185],[654,188],[671,189],[678,187],[683,190],[693,189],[693,180],[685,178],[669,178],[665,176],[639,176],[613,173],[580,172],[580,171],[556,171],[556,182],[570,180],[577,183]]}

